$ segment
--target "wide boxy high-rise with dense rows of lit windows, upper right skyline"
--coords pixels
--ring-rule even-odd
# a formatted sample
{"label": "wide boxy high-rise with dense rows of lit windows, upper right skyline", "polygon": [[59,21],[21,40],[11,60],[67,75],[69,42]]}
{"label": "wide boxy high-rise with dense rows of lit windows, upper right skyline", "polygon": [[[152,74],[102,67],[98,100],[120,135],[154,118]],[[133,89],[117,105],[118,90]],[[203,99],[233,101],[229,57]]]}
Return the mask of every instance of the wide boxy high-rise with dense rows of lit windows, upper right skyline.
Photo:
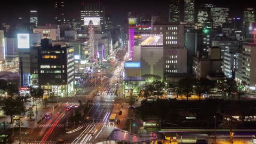
{"label": "wide boxy high-rise with dense rows of lit windows, upper right skyline", "polygon": [[222,23],[227,22],[228,15],[228,8],[213,7],[211,9],[211,19],[213,19],[213,28],[222,27]]}

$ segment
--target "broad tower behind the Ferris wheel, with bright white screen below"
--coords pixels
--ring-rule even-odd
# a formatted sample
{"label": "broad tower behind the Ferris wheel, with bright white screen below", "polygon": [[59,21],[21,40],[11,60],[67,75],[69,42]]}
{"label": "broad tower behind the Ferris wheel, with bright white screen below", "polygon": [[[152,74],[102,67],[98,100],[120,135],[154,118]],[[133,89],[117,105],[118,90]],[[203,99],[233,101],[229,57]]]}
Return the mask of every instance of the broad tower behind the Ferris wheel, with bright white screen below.
{"label": "broad tower behind the Ferris wheel, with bright white screen below", "polygon": [[105,11],[100,1],[89,0],[81,3],[81,22],[84,29],[87,29],[90,20],[93,21],[94,27],[103,27]]}

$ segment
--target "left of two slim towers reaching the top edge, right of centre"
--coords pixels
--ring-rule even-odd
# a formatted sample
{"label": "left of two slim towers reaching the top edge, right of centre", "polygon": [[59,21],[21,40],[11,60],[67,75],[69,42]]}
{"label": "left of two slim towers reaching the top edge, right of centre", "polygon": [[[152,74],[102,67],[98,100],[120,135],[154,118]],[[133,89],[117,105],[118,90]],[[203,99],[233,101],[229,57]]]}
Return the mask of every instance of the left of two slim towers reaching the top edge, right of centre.
{"label": "left of two slim towers reaching the top edge, right of centre", "polygon": [[169,9],[169,21],[180,21],[180,0],[171,0]]}

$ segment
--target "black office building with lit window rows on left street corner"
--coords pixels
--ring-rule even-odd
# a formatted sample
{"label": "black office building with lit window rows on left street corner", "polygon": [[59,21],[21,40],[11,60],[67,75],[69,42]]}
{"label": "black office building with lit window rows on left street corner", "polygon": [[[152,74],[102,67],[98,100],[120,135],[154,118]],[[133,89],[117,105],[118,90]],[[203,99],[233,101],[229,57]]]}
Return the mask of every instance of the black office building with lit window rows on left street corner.
{"label": "black office building with lit window rows on left street corner", "polygon": [[38,82],[42,89],[55,95],[74,89],[74,47],[52,46],[51,39],[42,39],[38,50]]}

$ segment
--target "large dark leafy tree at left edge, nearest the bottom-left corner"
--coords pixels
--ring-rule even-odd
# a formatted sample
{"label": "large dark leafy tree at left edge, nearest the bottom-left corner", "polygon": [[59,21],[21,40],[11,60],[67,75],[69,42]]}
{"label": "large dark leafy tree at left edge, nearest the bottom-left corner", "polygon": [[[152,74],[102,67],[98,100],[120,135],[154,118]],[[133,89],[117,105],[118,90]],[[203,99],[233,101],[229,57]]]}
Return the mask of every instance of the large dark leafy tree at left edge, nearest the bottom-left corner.
{"label": "large dark leafy tree at left edge, nearest the bottom-left corner", "polygon": [[4,111],[4,114],[11,117],[20,114],[22,111],[25,111],[25,107],[23,102],[19,101],[19,99],[13,99],[12,97],[3,99],[3,106],[1,110]]}

